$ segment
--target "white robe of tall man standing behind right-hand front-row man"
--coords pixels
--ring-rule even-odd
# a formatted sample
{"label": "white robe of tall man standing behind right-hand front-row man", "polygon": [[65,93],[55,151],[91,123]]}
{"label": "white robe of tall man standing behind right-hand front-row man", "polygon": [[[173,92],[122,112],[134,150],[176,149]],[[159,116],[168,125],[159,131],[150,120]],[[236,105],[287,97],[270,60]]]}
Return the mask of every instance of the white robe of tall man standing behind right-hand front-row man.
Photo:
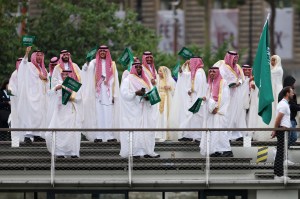
{"label": "white robe of tall man standing behind right-hand front-row man", "polygon": [[[246,128],[246,116],[244,110],[244,96],[245,89],[243,86],[244,83],[244,73],[239,65],[237,65],[240,75],[238,76],[236,72],[225,64],[223,60],[216,63],[220,66],[220,74],[224,80],[226,80],[228,86],[232,83],[240,83],[240,86],[236,88],[229,88],[230,90],[230,104],[228,108],[228,128]],[[243,137],[243,132],[233,131],[231,133],[231,139],[237,139]]]}

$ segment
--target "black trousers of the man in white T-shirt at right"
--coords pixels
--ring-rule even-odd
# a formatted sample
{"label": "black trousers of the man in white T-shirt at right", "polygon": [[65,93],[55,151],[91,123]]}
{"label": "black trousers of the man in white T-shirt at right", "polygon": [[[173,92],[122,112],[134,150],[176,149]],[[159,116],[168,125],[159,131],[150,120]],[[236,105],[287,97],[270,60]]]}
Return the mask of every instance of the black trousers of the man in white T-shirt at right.
{"label": "black trousers of the man in white T-shirt at right", "polygon": [[283,176],[283,161],[284,161],[284,132],[277,131],[277,152],[274,162],[274,174],[276,176]]}

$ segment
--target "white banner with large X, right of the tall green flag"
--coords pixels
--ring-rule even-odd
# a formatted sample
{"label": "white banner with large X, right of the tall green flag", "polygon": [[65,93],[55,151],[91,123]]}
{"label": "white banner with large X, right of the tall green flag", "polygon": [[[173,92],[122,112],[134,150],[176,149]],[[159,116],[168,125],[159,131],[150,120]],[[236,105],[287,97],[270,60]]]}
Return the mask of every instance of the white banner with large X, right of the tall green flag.
{"label": "white banner with large X, right of the tall green flag", "polygon": [[281,59],[293,59],[293,8],[276,8],[274,43]]}

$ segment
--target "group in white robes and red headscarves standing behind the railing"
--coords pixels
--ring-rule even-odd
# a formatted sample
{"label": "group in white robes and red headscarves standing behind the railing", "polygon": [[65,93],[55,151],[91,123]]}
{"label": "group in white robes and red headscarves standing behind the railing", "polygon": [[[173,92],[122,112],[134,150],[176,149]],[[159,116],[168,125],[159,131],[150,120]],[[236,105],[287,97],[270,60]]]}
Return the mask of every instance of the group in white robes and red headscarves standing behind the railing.
{"label": "group in white robes and red headscarves standing behind the railing", "polygon": [[[82,70],[67,50],[53,57],[49,73],[44,54],[33,52],[31,62],[26,49],[19,67],[12,74],[12,127],[14,128],[97,128],[100,132],[16,132],[12,139],[32,142],[46,139],[47,147],[58,157],[79,157],[81,133],[92,142],[120,140],[122,157],[157,158],[155,139],[196,141],[203,155],[232,157],[230,140],[242,140],[252,132],[192,132],[178,136],[169,132],[111,132],[111,128],[246,128],[256,127],[258,89],[253,83],[252,69],[240,67],[238,54],[228,51],[224,60],[208,71],[208,81],[201,57],[192,57],[181,68],[177,83],[165,66],[157,72],[151,52],[143,53],[142,62],[134,64],[122,75],[107,46],[99,47],[95,59]],[[18,62],[17,62],[18,65]],[[82,84],[75,92],[65,86],[67,77]],[[146,95],[154,87],[161,102],[151,105]],[[71,92],[62,104],[63,90]],[[201,98],[199,111],[189,109]],[[30,113],[30,114],[28,114]],[[173,135],[173,134],[172,134]],[[53,139],[55,138],[55,139]],[[53,147],[55,146],[55,147]]]}

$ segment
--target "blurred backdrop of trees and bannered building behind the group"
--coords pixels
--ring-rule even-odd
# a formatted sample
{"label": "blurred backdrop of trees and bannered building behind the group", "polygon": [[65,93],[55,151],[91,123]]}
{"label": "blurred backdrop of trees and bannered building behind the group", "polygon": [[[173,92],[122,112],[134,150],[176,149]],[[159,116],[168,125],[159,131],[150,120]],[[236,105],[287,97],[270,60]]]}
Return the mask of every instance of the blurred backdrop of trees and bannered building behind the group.
{"label": "blurred backdrop of trees and bannered building behind the group", "polygon": [[206,69],[227,50],[240,53],[240,64],[252,65],[268,13],[271,55],[282,58],[284,76],[300,77],[300,0],[0,2],[0,80],[9,78],[15,60],[24,56],[21,36],[25,34],[36,36],[33,48],[45,52],[46,64],[68,49],[82,66],[90,49],[106,44],[114,60],[125,47],[138,57],[150,50],[156,67],[174,67],[183,46],[202,56]]}

